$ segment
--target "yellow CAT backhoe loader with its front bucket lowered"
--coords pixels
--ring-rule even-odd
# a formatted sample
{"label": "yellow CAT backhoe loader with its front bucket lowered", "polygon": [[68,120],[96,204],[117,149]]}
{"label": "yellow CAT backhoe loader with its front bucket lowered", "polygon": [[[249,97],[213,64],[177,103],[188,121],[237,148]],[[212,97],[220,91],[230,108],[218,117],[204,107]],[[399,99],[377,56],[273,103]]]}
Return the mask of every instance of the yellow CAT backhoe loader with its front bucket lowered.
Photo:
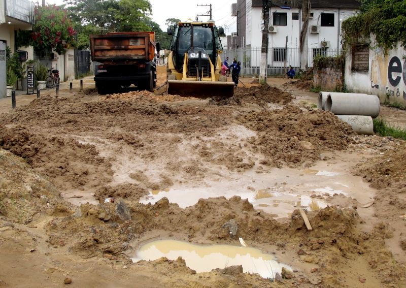
{"label": "yellow CAT backhoe loader with its front bucket lowered", "polygon": [[[224,33],[221,29],[220,34]],[[172,35],[166,68],[168,94],[232,97],[233,83],[220,75],[223,47],[213,22],[179,22],[167,33]]]}

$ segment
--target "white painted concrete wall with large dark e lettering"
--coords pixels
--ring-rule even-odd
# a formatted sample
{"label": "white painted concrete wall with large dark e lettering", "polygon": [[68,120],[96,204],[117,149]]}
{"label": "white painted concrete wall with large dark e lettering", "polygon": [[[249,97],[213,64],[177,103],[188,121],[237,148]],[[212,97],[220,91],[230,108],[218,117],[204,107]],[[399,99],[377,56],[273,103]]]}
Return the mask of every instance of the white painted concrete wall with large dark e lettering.
{"label": "white painted concrete wall with large dark e lettering", "polygon": [[[370,47],[376,47],[371,39]],[[406,50],[400,43],[388,51],[380,48],[369,50],[368,71],[352,71],[352,52],[346,55],[345,83],[349,90],[360,93],[375,94],[390,103],[400,103],[406,106]]]}

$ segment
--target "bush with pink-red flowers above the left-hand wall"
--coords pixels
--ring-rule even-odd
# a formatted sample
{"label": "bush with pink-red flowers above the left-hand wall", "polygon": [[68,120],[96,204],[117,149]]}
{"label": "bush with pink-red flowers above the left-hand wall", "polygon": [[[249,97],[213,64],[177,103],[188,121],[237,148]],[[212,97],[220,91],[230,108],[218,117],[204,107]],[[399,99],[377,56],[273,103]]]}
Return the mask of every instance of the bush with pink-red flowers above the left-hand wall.
{"label": "bush with pink-red flowers above the left-hand wall", "polygon": [[44,7],[37,5],[30,44],[36,51],[55,49],[58,54],[63,54],[67,48],[75,47],[76,44],[76,31],[72,26],[62,7],[55,4]]}

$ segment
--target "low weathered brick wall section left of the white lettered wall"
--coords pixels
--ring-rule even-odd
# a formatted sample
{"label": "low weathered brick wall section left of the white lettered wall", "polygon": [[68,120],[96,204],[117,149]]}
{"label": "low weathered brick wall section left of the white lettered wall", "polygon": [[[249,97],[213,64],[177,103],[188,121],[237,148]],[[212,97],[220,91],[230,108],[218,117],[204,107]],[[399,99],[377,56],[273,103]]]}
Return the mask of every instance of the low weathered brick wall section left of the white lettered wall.
{"label": "low weathered brick wall section left of the white lettered wall", "polygon": [[343,70],[339,68],[316,68],[313,72],[313,85],[323,91],[341,91],[344,84]]}

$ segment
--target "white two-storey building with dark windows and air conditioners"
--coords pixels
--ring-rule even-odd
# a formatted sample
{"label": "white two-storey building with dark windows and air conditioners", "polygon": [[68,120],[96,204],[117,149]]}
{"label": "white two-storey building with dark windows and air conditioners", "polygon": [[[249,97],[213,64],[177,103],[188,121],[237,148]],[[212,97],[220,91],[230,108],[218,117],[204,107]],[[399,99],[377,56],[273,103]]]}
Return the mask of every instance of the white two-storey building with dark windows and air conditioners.
{"label": "white two-storey building with dark windows and air conditioners", "polygon": [[[237,5],[238,15],[246,17],[245,44],[247,49],[251,49],[249,64],[255,67],[259,66],[260,56],[257,56],[259,54],[257,51],[260,50],[262,43],[262,0],[244,2],[245,7]],[[335,55],[341,49],[341,22],[355,15],[360,3],[356,0],[310,0],[307,34],[304,37],[302,51],[300,33],[305,23],[307,9],[303,11],[301,6],[302,1],[272,1],[268,29],[270,67],[283,68],[284,65],[291,65],[306,69],[313,66],[314,55]]]}

